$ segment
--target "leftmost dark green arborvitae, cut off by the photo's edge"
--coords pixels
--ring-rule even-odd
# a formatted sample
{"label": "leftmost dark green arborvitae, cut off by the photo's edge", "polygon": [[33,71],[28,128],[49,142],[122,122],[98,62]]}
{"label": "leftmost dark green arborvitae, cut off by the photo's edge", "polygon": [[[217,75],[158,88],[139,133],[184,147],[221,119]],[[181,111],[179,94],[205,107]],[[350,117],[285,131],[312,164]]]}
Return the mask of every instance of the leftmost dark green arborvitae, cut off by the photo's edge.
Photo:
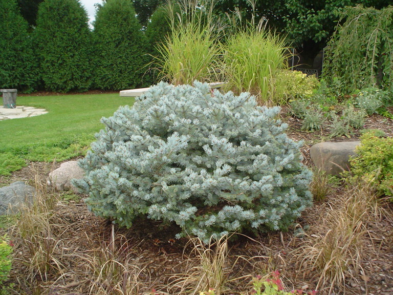
{"label": "leftmost dark green arborvitae, cut off by the photo's edge", "polygon": [[26,20],[15,0],[0,0],[0,87],[32,91],[37,82],[36,69]]}

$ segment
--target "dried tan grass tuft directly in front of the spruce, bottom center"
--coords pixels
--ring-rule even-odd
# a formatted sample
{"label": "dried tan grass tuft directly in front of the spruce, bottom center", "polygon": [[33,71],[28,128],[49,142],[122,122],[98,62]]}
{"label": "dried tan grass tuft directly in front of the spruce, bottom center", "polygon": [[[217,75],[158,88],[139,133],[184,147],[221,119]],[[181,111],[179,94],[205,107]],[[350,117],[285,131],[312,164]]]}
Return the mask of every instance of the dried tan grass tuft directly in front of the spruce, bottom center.
{"label": "dried tan grass tuft directly in front of the spruce, bottom center", "polygon": [[[224,236],[220,240],[210,240],[205,245],[198,238],[191,238],[185,249],[191,247],[182,268],[182,273],[171,275],[168,280],[167,289],[169,294],[199,294],[214,290],[214,294],[236,293],[236,289],[244,291],[253,278],[253,273],[268,276],[271,257],[266,255],[247,256],[230,254],[228,239]],[[255,243],[257,241],[248,238]],[[265,249],[263,245],[259,245]]]}

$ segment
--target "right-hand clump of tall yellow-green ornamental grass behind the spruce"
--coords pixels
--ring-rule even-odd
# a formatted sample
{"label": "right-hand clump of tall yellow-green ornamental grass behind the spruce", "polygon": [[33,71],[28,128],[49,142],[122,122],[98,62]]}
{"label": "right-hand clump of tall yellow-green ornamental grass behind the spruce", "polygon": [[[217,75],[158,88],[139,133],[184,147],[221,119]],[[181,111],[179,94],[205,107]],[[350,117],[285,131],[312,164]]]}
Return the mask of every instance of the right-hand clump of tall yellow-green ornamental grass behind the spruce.
{"label": "right-hand clump of tall yellow-green ornamental grass behind the spruce", "polygon": [[270,32],[260,23],[246,31],[232,35],[224,47],[224,73],[226,88],[239,94],[243,91],[256,95],[261,104],[268,101],[286,101],[290,91],[277,78],[286,66],[287,47],[285,40]]}

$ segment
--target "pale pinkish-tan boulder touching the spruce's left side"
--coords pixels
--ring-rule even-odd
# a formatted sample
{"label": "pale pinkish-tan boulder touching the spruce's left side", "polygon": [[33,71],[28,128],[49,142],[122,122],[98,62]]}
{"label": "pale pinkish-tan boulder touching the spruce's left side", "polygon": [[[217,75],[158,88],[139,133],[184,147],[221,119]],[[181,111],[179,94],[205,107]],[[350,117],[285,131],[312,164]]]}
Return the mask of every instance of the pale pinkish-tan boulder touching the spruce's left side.
{"label": "pale pinkish-tan boulder touching the spruce's left side", "polygon": [[78,192],[71,180],[81,179],[83,176],[84,171],[79,167],[77,161],[64,162],[49,174],[48,185],[54,186],[57,191]]}

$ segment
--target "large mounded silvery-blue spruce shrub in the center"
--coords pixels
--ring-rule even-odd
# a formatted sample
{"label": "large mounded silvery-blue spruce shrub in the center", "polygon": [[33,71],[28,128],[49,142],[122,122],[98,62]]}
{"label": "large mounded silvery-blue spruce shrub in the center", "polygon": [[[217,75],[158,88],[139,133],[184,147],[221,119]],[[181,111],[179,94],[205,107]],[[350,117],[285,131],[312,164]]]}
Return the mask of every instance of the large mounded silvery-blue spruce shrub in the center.
{"label": "large mounded silvery-blue spruce shrub in the center", "polygon": [[176,222],[204,242],[242,229],[286,229],[312,202],[300,143],[258,107],[195,81],[161,82],[102,118],[76,185],[97,215],[131,226],[140,215]]}

